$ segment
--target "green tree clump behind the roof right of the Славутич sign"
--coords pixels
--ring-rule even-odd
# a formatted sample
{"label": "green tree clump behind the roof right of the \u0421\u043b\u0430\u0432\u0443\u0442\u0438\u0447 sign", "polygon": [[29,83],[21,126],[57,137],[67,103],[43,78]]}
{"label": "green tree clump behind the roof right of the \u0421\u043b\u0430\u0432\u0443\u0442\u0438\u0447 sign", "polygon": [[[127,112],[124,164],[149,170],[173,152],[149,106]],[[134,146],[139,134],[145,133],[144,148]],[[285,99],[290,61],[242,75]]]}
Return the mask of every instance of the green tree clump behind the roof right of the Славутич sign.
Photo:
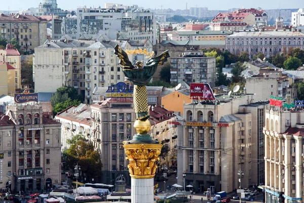
{"label": "green tree clump behind the roof right of the \u0421\u043b\u0430\u0432\u0443\u0442\u0438\u0447 sign", "polygon": [[70,106],[77,107],[83,102],[84,97],[78,94],[78,90],[68,86],[59,87],[51,97],[54,115]]}

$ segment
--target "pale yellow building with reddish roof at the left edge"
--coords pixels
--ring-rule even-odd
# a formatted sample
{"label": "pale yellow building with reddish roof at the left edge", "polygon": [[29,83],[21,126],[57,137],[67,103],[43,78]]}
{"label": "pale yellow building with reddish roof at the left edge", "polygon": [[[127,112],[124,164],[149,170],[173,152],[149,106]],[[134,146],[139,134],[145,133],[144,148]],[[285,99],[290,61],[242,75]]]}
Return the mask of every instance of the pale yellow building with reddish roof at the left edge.
{"label": "pale yellow building with reddish roof at the left edge", "polygon": [[0,49],[0,57],[13,67],[8,71],[8,95],[13,96],[14,93],[20,93],[21,54],[13,48],[12,44],[8,44],[6,49]]}

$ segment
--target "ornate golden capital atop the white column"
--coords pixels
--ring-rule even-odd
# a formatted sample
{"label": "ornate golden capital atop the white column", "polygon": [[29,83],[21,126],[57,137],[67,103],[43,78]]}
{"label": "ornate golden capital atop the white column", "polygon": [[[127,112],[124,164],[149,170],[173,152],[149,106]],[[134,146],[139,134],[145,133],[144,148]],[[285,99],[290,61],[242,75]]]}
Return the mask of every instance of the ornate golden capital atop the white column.
{"label": "ornate golden capital atop the white column", "polygon": [[162,144],[126,144],[124,143],[129,173],[135,179],[149,179],[155,176],[156,162],[159,159]]}

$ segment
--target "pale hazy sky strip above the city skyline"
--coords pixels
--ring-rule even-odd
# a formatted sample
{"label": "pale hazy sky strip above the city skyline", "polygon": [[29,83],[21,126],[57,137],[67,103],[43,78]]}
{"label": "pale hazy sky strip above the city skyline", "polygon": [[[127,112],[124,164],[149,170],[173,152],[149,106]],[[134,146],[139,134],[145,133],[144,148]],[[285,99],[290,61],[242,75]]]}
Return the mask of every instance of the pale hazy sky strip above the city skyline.
{"label": "pale hazy sky strip above the city skyline", "polygon": [[[43,0],[1,0],[0,10],[27,10],[31,7],[38,7]],[[47,1],[47,0],[46,0]],[[185,9],[187,7],[207,7],[209,10],[228,10],[230,8],[262,8],[262,9],[298,9],[304,8],[303,0],[217,0],[217,1],[195,1],[195,0],[57,0],[58,7],[64,10],[77,10],[77,7],[98,7],[104,8],[104,3],[116,3],[124,5],[138,5],[150,9]]]}

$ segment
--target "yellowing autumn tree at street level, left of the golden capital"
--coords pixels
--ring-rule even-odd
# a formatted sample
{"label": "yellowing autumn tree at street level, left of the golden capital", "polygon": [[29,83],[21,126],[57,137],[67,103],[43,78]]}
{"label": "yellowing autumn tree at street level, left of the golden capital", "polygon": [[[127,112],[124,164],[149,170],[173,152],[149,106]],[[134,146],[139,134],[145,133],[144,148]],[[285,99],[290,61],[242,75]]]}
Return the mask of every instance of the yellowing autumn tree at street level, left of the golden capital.
{"label": "yellowing autumn tree at street level, left of the golden capital", "polygon": [[[94,150],[94,146],[84,141],[81,136],[80,139],[70,145],[69,149],[64,150],[63,154],[66,159],[66,167],[73,169],[75,163],[81,166],[81,172],[84,178],[86,174],[87,180],[96,177],[101,170],[102,163],[100,155]],[[76,140],[76,139],[75,139]]]}

